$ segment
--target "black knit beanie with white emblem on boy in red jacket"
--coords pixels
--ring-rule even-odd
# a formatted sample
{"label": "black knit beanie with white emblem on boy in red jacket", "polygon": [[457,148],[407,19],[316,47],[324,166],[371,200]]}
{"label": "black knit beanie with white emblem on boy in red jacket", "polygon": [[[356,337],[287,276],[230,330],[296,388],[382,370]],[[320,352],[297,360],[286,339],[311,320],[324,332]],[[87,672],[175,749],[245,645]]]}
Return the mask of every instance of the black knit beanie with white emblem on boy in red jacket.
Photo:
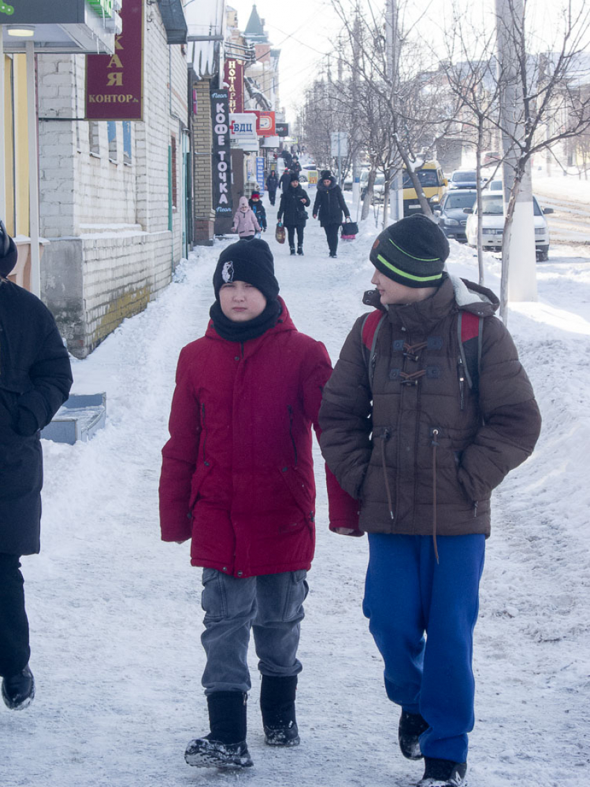
{"label": "black knit beanie with white emblem on boy in red jacket", "polygon": [[275,279],[275,263],[266,241],[253,238],[232,243],[223,249],[213,274],[217,299],[221,286],[230,282],[247,282],[260,290],[267,301],[276,300],[278,281]]}

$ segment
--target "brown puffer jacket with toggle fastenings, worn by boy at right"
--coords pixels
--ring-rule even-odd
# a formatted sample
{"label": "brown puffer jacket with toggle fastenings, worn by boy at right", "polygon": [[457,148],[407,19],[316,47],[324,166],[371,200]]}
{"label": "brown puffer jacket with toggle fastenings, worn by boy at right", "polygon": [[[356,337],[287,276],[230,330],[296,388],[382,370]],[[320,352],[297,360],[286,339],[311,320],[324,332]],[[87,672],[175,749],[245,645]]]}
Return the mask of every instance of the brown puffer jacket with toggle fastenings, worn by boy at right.
{"label": "brown puffer jacket with toggle fastenings, worn by boy at right", "polygon": [[[389,306],[372,393],[367,315],[356,320],[324,388],[319,423],[326,463],[361,502],[361,531],[489,535],[492,490],[532,453],[540,432],[533,389],[493,316],[497,306],[490,290],[446,274],[433,297]],[[460,382],[459,309],[485,318],[478,391]]]}

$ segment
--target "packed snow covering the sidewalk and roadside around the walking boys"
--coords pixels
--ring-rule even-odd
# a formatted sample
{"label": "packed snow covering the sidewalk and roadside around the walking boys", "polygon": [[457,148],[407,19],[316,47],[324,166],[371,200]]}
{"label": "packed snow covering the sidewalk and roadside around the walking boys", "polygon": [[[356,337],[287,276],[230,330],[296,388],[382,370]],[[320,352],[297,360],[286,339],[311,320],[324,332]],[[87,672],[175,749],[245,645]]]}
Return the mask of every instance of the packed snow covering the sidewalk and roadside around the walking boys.
{"label": "packed snow covering the sidewalk and roadside around the walking boys", "polygon": [[[330,260],[310,219],[305,256],[289,257],[272,237],[276,208],[267,213],[293,320],[336,360],[365,310],[375,223],[364,222]],[[107,426],[88,443],[43,441],[42,552],[23,560],[37,696],[27,710],[0,711],[2,787],[410,787],[422,775],[397,748],[399,711],[385,696],[361,611],[367,539],[328,531],[317,446],[301,746],[264,745],[252,652],[254,767],[230,775],[184,762],[186,742],[208,730],[201,571],[190,567],[187,544],[160,541],[157,483],[176,360],[205,331],[223,243],[191,253],[145,312],[73,364],[76,393],[106,392]],[[455,242],[448,268],[477,280],[473,250]],[[555,247],[537,272],[539,301],[511,305],[509,327],[544,427],[536,452],[494,496],[475,630],[470,787],[585,787],[589,779],[588,247]],[[485,283],[496,292],[499,275],[500,262],[486,257]]]}

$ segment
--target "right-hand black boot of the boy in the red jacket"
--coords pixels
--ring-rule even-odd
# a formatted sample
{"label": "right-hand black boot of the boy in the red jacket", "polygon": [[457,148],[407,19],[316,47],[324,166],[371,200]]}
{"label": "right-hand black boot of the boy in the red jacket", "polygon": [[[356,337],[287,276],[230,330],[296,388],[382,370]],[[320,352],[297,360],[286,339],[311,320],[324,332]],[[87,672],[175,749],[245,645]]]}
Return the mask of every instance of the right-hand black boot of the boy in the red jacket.
{"label": "right-hand black boot of the boy in the red jacket", "polygon": [[264,726],[264,742],[269,746],[297,746],[300,743],[295,719],[297,675],[277,678],[262,676],[260,710]]}

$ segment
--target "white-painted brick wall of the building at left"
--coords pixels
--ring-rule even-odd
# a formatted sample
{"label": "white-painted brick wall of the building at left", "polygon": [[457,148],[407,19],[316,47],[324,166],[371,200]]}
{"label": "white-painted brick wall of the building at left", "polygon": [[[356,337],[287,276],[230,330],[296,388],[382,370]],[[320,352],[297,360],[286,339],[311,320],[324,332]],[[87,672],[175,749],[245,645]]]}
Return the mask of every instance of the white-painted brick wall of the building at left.
{"label": "white-painted brick wall of the building at left", "polygon": [[[180,46],[168,46],[157,4],[149,6],[144,24],[144,122],[131,124],[131,165],[124,164],[120,122],[116,123],[115,162],[109,161],[105,121],[98,124],[98,156],[90,153],[87,121],[39,122],[41,234],[82,242],[82,286],[75,297],[80,301],[76,319],[83,325],[76,325],[76,330],[61,326],[67,336],[86,337],[83,347],[71,348],[79,357],[125,317],[145,308],[170,282],[183,253],[181,127],[186,127],[187,119],[186,57]],[[85,67],[83,55],[39,55],[40,118],[83,117]],[[178,205],[170,232],[171,135],[176,139]],[[51,254],[47,259],[51,264]],[[46,274],[44,280],[54,284],[55,277]],[[67,270],[56,275],[67,279]],[[67,286],[65,281],[57,289]],[[50,308],[51,297],[48,290]],[[74,312],[68,310],[68,320]]]}

